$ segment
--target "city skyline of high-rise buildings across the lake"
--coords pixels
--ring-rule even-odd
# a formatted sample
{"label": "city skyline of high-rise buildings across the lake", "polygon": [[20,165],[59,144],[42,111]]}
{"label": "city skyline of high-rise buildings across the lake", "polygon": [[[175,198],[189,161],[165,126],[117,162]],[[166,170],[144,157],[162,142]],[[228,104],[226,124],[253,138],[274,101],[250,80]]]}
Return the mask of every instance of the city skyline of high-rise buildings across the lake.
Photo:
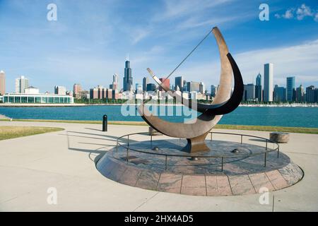
{"label": "city skyline of high-rise buildings across the lake", "polygon": [[[90,99],[113,99],[113,97],[117,100],[122,97],[122,94],[119,93],[135,93],[135,95],[140,95],[146,91],[163,91],[163,89],[159,85],[155,85],[153,83],[149,83],[148,77],[143,77],[142,83],[132,83],[133,78],[131,76],[131,68],[130,68],[130,61],[128,56],[126,57],[126,61],[124,64],[124,73],[125,76],[123,78],[124,87],[126,86],[126,90],[123,87],[122,89],[119,86],[119,76],[117,73],[114,73],[112,76],[112,83],[109,85],[109,88],[104,88],[103,85],[98,85],[97,87],[90,88],[88,90],[82,90],[81,84],[74,83],[73,90],[67,90],[66,87],[61,85],[54,85],[54,94],[55,95],[71,95],[76,99],[81,98],[90,98]],[[286,77],[285,87],[273,84],[274,78],[274,70],[273,70],[273,63],[266,63],[264,64],[264,80],[262,81],[261,73],[258,73],[255,83],[245,83],[244,85],[244,95],[242,97],[242,101],[257,101],[257,102],[317,102],[317,90],[314,85],[310,85],[306,87],[306,91],[309,90],[308,95],[304,91],[302,84],[296,88],[295,85],[295,76],[288,76]],[[175,85],[170,84],[170,79],[166,78],[159,78],[161,82],[164,82],[164,85],[171,90],[180,90],[179,86],[182,86],[181,92],[188,93],[189,98],[193,98],[194,95],[195,99],[197,97],[197,93],[201,93],[201,97],[204,95],[214,97],[217,93],[218,86],[211,85],[211,93],[208,93],[206,90],[206,86],[201,81],[185,81],[183,80],[183,76],[179,76],[175,78]],[[1,84],[4,85],[3,81],[5,81],[5,73],[1,71]],[[126,84],[125,84],[126,83]],[[262,85],[263,84],[263,85]],[[135,85],[135,88],[133,86]],[[150,85],[148,87],[148,85]],[[130,86],[127,89],[127,86]],[[107,87],[107,85],[106,85]],[[262,90],[264,87],[264,90]],[[28,90],[28,92],[27,92]],[[84,93],[82,93],[82,91]],[[16,78],[16,92],[13,94],[18,93],[39,93],[39,89],[29,85],[28,78],[25,76],[20,76],[20,78]],[[89,92],[89,93],[88,93]],[[109,93],[110,92],[110,93]],[[48,93],[48,92],[45,92]],[[126,95],[126,94],[125,94]],[[203,96],[202,96],[203,95]],[[307,97],[310,96],[310,97]],[[130,95],[129,95],[130,97]],[[125,99],[126,97],[124,97]],[[140,98],[136,96],[136,98]],[[204,97],[205,98],[205,97]]]}

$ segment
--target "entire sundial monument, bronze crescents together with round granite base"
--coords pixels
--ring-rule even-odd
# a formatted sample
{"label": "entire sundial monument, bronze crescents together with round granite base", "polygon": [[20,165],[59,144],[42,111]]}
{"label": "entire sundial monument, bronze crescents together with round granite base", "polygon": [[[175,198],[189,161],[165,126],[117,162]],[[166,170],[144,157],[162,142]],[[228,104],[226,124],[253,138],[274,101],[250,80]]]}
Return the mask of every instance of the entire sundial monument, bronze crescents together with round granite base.
{"label": "entire sundial monument, bronze crescents together with round granite base", "polygon": [[[216,37],[221,64],[220,86],[212,104],[206,105],[182,99],[178,92],[165,87],[164,81],[159,81],[151,69],[148,69],[163,90],[175,97],[178,102],[201,114],[191,122],[175,123],[151,114],[146,107],[146,100],[138,107],[139,114],[150,126],[167,136],[186,138],[187,145],[180,148],[180,142],[176,139],[171,139],[169,142],[151,139],[149,145],[148,138],[141,141],[129,138],[143,133],[126,134],[117,139],[116,147],[107,150],[107,153],[98,159],[96,168],[102,175],[115,182],[142,189],[198,196],[257,194],[259,184],[269,184],[271,185],[268,186],[269,191],[276,191],[302,179],[304,175],[302,169],[287,155],[279,152],[278,143],[273,143],[273,148],[270,148],[268,142],[271,141],[266,138],[257,137],[264,143],[254,145],[248,142],[242,143],[242,137],[255,136],[225,133],[241,136],[241,143],[215,139],[213,143],[206,141],[208,143],[206,145],[205,138],[208,132],[220,121],[223,114],[232,112],[240,105],[244,91],[240,70],[228,52],[220,31],[218,28],[213,28],[210,32]],[[158,150],[162,151],[154,151],[156,149],[153,145],[158,145],[160,147],[157,147]],[[209,150],[208,147],[213,150]],[[180,154],[180,149],[190,154]],[[238,152],[232,153],[232,150]],[[192,154],[198,152],[202,153]],[[270,164],[266,165],[266,162]],[[246,177],[249,178],[248,182]],[[202,181],[205,182],[204,185]]]}

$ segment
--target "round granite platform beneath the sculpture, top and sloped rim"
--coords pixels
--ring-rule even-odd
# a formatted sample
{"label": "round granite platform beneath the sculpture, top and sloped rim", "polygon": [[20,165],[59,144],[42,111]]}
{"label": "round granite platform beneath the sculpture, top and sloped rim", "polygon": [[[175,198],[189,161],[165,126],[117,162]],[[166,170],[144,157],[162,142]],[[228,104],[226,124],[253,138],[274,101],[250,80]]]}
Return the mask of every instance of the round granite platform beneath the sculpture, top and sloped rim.
{"label": "round granite platform beneath the sculpture, top and sloped rim", "polygon": [[[167,139],[129,143],[129,148],[149,153],[189,155],[182,152],[186,141]],[[112,148],[100,160],[98,171],[115,182],[142,189],[196,196],[232,196],[276,191],[292,186],[303,177],[298,165],[275,151],[266,154],[265,147],[230,141],[206,141],[209,152],[192,157],[171,157],[139,153],[126,148]],[[235,151],[233,151],[235,150]],[[233,157],[233,155],[240,155]],[[259,153],[259,155],[254,155]],[[211,156],[214,157],[206,157]],[[246,156],[245,156],[246,155]],[[252,155],[252,156],[249,156]],[[218,157],[220,156],[220,157]],[[223,156],[223,169],[222,157]]]}

